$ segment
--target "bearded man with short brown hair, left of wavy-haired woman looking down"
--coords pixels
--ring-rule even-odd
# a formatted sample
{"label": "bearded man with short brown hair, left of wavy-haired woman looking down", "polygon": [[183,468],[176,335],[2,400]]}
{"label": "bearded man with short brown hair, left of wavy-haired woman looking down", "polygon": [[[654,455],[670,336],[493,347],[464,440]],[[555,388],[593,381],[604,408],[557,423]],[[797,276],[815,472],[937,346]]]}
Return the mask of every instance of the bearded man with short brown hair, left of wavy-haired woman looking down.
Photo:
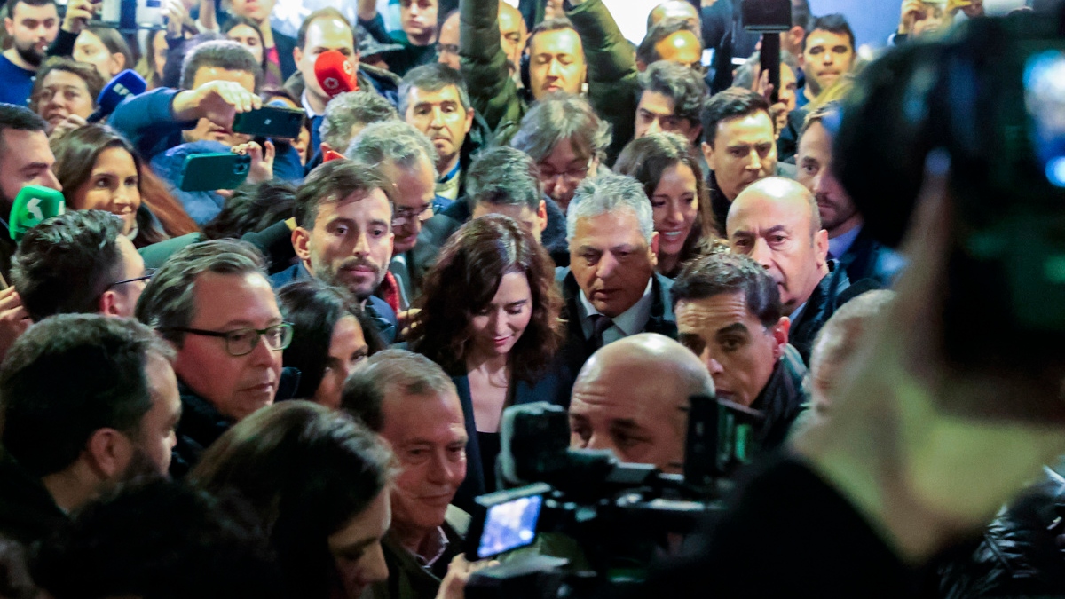
{"label": "bearded man with short brown hair, left of wavy-haired woman looking down", "polygon": [[275,288],[315,277],[344,287],[362,302],[384,341],[396,336],[395,311],[374,291],[392,260],[393,185],[376,168],[333,160],[296,191],[292,246],[299,262],[271,277]]}

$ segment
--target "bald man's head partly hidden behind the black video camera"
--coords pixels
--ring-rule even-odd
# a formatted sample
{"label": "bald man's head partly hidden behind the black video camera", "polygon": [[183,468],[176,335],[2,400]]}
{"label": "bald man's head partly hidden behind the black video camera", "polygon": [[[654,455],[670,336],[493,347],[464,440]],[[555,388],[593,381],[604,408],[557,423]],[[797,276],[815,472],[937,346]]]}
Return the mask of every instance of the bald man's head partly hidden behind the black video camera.
{"label": "bald man's head partly hidden behind the black video camera", "polygon": [[676,341],[641,333],[592,354],[573,386],[570,447],[608,449],[622,462],[684,468],[688,398],[714,394],[699,358]]}

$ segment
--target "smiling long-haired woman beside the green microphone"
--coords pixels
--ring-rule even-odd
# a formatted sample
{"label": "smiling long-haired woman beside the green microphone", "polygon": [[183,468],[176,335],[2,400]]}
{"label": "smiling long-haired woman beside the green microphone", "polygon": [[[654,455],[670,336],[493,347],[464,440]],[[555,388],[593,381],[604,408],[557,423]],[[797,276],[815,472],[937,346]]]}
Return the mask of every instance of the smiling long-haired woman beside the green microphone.
{"label": "smiling long-haired woman beside the green microphone", "polygon": [[[114,129],[86,125],[52,140],[51,145],[55,155],[53,171],[63,184],[69,209],[118,214],[126,223],[124,232],[136,247],[167,239],[167,229],[182,234],[180,231],[187,228],[181,216],[187,220],[189,215],[161,185],[146,183],[153,175],[133,146]],[[155,213],[148,201],[158,203],[163,210]],[[160,221],[163,215],[170,227]]]}

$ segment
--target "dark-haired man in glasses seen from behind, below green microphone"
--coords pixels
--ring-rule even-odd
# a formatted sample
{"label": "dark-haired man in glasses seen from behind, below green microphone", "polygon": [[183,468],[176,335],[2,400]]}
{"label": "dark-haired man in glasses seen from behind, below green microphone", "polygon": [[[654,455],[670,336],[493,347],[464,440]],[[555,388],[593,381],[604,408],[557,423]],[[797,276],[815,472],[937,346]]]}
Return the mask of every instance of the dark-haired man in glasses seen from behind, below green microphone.
{"label": "dark-haired man in glasses seen from behind, below green microphone", "polygon": [[75,210],[26,231],[11,275],[34,321],[71,312],[132,317],[149,278],[122,220],[102,210]]}

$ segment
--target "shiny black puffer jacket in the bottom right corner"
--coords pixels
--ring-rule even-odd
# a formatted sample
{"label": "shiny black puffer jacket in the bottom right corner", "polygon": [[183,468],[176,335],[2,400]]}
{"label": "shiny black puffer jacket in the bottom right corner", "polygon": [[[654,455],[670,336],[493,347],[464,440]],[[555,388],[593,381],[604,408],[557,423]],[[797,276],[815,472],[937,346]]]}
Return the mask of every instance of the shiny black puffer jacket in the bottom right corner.
{"label": "shiny black puffer jacket in the bottom right corner", "polygon": [[1047,479],[1004,507],[972,553],[939,567],[940,597],[1065,596],[1065,477]]}

